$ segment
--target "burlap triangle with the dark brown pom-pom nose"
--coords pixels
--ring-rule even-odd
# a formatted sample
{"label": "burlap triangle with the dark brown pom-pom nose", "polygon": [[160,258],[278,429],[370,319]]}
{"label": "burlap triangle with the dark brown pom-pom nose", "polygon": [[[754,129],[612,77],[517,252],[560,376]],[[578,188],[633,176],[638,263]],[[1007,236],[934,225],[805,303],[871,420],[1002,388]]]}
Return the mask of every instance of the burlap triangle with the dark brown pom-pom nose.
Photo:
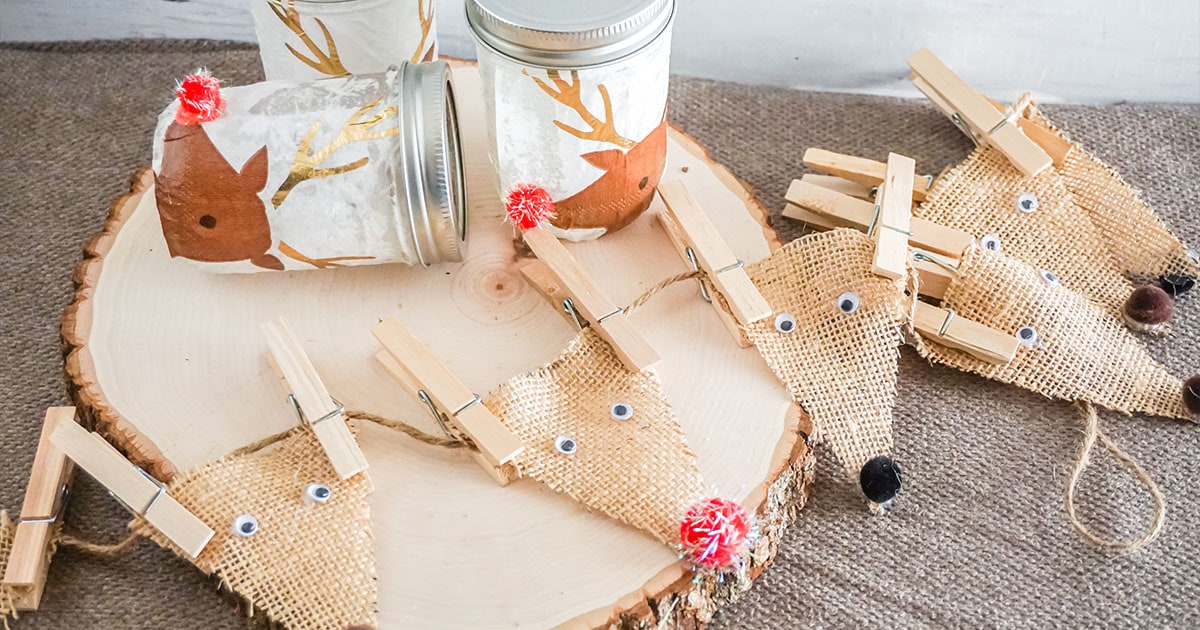
{"label": "burlap triangle with the dark brown pom-pom nose", "polygon": [[[1018,208],[1022,194],[1037,200]],[[1109,241],[1075,203],[1063,178],[1049,168],[1025,178],[1003,154],[979,146],[943,173],[913,216],[983,239],[998,238],[1002,252],[1058,276],[1067,287],[1120,317],[1133,286],[1109,251]]]}

